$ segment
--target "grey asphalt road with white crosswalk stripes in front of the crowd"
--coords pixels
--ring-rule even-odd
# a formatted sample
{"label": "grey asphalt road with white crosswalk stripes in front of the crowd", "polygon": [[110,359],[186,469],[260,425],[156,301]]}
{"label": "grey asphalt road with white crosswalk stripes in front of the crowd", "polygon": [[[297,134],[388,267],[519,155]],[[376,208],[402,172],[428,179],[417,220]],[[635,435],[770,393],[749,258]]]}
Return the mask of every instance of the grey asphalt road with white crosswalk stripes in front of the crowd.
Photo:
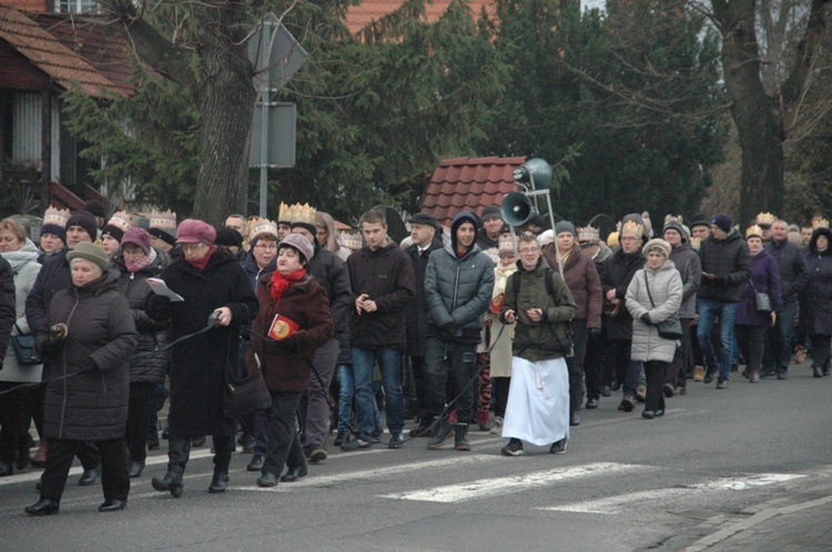
{"label": "grey asphalt road with white crosswalk stripes in front of the crowd", "polygon": [[[182,499],[156,493],[153,453],[125,511],[100,514],[101,488],[74,485],[58,515],[33,519],[38,471],[0,479],[3,550],[832,550],[832,378],[793,366],[788,381],[729,389],[690,382],[667,416],[582,412],[566,454],[473,431],[473,451],[377,447],[331,457],[307,478],[258,489],[232,460],[231,488],[206,492],[207,447]],[[385,438],[386,439],[386,438]],[[74,473],[80,468],[73,469]]]}

